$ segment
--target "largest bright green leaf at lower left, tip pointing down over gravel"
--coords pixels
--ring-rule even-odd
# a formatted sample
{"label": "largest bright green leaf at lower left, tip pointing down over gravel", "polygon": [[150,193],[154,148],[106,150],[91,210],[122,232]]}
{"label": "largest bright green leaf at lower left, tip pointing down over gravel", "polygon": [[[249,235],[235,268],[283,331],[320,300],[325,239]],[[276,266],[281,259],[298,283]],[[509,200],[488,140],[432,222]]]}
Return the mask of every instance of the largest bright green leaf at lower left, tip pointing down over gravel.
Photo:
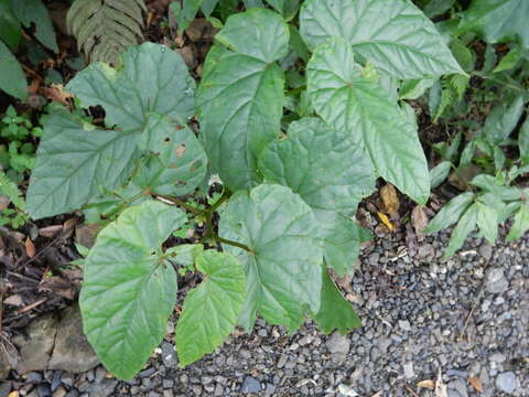
{"label": "largest bright green leaf at lower left, tip pointing down over gravel", "polygon": [[105,367],[132,378],[165,334],[176,275],[161,245],[185,214],[160,202],[126,210],[85,260],[79,304],[88,342]]}

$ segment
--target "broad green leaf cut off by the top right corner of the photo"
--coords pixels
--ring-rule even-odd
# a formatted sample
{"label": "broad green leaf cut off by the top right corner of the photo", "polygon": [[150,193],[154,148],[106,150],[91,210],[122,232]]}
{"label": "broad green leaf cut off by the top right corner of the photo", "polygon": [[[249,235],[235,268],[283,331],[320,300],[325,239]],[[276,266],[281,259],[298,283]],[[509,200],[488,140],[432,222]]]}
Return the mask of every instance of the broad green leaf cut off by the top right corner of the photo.
{"label": "broad green leaf cut off by the top right corner of the photo", "polygon": [[527,0],[473,0],[463,15],[461,31],[474,30],[489,43],[517,40],[529,47]]}

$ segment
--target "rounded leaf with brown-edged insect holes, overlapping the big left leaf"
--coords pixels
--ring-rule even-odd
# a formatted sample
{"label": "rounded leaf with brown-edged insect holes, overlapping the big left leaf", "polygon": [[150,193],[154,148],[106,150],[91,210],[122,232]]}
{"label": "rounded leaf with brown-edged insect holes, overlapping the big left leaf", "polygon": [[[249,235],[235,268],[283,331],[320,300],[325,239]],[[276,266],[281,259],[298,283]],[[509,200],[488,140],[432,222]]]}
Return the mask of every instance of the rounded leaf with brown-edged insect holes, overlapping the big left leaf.
{"label": "rounded leaf with brown-edged insect holes, overlapping the big left leaf", "polygon": [[207,157],[188,128],[176,128],[170,119],[151,116],[140,148],[148,155],[132,182],[142,191],[182,196],[201,184],[207,171]]}

